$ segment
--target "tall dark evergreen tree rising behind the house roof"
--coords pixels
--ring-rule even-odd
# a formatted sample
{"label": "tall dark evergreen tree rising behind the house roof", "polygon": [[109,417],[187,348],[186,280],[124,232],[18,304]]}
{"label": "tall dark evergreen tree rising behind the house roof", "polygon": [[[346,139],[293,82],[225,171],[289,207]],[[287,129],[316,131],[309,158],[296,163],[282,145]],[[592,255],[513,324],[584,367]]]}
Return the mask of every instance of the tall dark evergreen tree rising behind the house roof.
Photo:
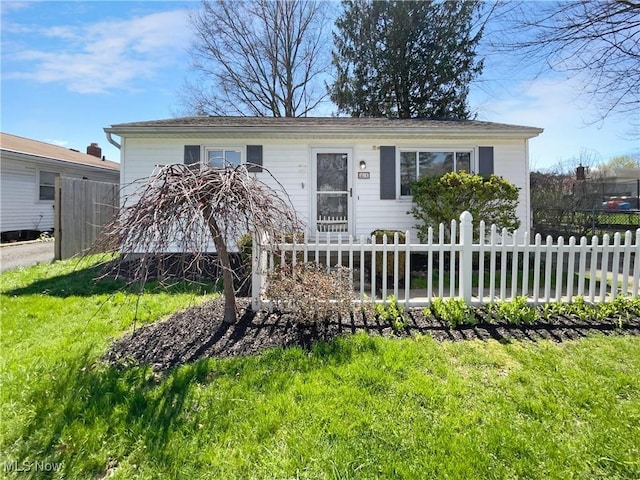
{"label": "tall dark evergreen tree rising behind the house roof", "polygon": [[482,71],[475,0],[345,0],[336,21],[331,100],[353,117],[469,118]]}

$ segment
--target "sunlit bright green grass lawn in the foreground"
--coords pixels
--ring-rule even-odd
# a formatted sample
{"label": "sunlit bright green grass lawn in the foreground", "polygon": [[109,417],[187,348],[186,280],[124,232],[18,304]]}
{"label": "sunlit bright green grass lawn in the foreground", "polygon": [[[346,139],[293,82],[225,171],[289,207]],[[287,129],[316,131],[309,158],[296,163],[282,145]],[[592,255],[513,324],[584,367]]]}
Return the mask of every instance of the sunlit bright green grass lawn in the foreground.
{"label": "sunlit bright green grass lawn in the foreground", "polygon": [[[1,277],[2,458],[61,463],[16,478],[640,477],[639,338],[359,334],[159,376],[98,361],[135,296],[91,278]],[[149,290],[138,321],[199,300]]]}

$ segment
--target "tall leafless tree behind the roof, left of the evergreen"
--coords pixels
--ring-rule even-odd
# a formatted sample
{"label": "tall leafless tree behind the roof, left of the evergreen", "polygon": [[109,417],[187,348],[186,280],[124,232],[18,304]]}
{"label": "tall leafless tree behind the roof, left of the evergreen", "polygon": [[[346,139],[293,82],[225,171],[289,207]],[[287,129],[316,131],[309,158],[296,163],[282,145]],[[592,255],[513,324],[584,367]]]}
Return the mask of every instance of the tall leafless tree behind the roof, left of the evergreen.
{"label": "tall leafless tree behind the roof, left of the evergreen", "polygon": [[184,102],[198,115],[306,116],[326,97],[327,2],[204,0],[191,14],[197,83]]}

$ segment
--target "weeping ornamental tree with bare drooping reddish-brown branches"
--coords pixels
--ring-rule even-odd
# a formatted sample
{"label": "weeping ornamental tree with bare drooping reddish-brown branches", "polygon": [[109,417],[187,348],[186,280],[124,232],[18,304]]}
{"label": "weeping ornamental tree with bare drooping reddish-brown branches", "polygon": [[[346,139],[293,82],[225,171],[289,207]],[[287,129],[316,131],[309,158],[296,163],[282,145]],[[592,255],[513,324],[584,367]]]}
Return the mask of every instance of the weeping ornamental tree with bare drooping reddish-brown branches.
{"label": "weeping ornamental tree with bare drooping reddish-brown branches", "polygon": [[[270,175],[264,169],[261,175]],[[275,241],[279,234],[299,229],[295,211],[280,184],[268,186],[235,168],[193,168],[183,164],[158,167],[153,174],[132,185],[115,220],[103,233],[100,247],[120,251],[112,265],[120,272],[139,256],[132,281],[144,284],[152,277],[159,256],[169,251],[189,254],[187,268],[199,268],[210,244],[222,271],[225,298],[224,321],[237,321],[229,247],[243,233],[255,231]]]}

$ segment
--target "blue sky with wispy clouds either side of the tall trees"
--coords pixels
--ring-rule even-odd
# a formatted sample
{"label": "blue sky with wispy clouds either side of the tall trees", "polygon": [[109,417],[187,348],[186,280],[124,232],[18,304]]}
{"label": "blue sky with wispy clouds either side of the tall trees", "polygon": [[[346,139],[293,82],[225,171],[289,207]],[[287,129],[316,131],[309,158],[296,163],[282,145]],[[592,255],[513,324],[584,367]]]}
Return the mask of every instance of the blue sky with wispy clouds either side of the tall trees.
{"label": "blue sky with wispy clouds either side of the tall trees", "polygon": [[[188,9],[196,1],[2,1],[3,132],[84,151],[98,142],[119,152],[103,128],[181,112],[189,71]],[[640,155],[638,116],[595,122],[577,79],[514,74],[512,60],[490,57],[472,86],[478,119],[542,127],[530,142],[532,168],[580,154],[603,161]],[[331,111],[330,107],[326,107]]]}

